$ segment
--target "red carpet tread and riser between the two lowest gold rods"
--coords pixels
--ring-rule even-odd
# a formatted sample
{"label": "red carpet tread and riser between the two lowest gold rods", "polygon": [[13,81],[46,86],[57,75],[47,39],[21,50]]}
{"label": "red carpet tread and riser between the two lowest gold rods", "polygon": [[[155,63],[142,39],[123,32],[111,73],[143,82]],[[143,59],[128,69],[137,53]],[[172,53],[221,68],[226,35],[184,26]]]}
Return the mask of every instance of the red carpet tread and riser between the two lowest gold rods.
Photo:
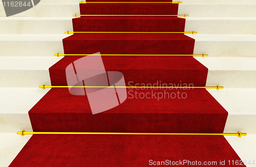
{"label": "red carpet tread and riser between the two lowest gold rods", "polygon": [[[66,88],[51,89],[29,111],[32,128],[34,131],[177,133],[221,133],[224,130],[228,113],[206,90],[127,91],[129,94],[121,105],[92,115],[87,96],[71,95]],[[153,97],[136,98],[135,91]],[[179,98],[178,91],[186,98],[184,95]],[[166,95],[158,100],[154,94],[159,93],[176,94],[177,98]],[[201,101],[201,98],[205,99]],[[55,100],[49,99],[61,100],[66,105],[56,105]],[[50,110],[44,107],[46,103]],[[208,112],[204,112],[204,107],[208,107]]]}

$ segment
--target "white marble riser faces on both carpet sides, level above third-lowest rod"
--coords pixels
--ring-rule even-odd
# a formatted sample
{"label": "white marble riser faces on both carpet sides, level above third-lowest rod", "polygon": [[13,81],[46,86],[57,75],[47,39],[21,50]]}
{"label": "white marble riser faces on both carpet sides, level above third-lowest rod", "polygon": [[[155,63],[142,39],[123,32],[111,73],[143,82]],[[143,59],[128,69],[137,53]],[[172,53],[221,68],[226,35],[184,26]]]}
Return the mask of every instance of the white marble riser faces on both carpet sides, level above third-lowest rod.
{"label": "white marble riser faces on both carpet sides, level above third-lowest rod", "polygon": [[[1,40],[0,57],[51,57],[56,53],[63,54],[61,40],[65,37],[67,35],[61,35],[61,37],[49,40]],[[191,37],[196,39],[194,54],[202,54],[204,52],[209,54],[209,57],[255,57],[256,55],[256,49],[254,49],[256,39],[255,41],[241,41],[238,37],[237,40],[227,41],[220,38],[216,41],[215,39],[210,39],[211,37],[208,40],[197,39],[196,35]]]}

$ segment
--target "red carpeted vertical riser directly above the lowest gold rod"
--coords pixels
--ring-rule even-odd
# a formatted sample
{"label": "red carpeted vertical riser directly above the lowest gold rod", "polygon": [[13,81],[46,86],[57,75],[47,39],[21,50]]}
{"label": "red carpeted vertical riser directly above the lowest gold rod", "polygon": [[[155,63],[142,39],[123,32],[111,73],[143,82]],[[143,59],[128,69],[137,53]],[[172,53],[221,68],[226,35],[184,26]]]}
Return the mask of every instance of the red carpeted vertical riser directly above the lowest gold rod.
{"label": "red carpeted vertical riser directly above the lowest gold rod", "polygon": [[227,115],[101,114],[97,116],[74,113],[29,113],[29,117],[33,131],[222,133]]}

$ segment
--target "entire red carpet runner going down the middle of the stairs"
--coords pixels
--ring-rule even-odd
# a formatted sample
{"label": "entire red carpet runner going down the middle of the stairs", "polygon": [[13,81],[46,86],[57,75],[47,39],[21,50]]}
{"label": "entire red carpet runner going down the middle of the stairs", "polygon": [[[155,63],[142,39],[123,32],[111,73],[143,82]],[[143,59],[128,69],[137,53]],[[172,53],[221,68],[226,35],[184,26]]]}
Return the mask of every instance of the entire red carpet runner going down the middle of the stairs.
{"label": "entire red carpet runner going down the middle of the stairs", "polygon": [[[80,13],[177,15],[178,4],[80,4]],[[85,16],[74,18],[73,27],[77,32],[184,32],[185,19]],[[74,34],[63,39],[66,54],[99,51],[193,54],[194,43],[194,39],[183,34],[96,33]],[[66,56],[49,69],[52,86],[67,86],[65,69],[79,58]],[[102,56],[102,60],[106,71],[123,73],[126,86],[160,84],[160,81],[176,86],[206,84],[208,69],[193,57]],[[150,93],[152,98],[136,98],[135,91]],[[153,96],[166,92],[187,96],[174,99]],[[134,89],[127,93],[121,105],[92,115],[86,96],[71,95],[68,89],[51,89],[29,111],[33,131],[222,133],[224,130],[228,113],[205,89],[154,90],[154,93],[150,89]],[[199,162],[232,166],[228,160],[240,158],[224,136],[33,135],[10,166],[147,166],[157,161],[164,161],[165,165],[173,165],[172,161],[177,165],[179,161],[179,165],[185,166],[198,166]]]}

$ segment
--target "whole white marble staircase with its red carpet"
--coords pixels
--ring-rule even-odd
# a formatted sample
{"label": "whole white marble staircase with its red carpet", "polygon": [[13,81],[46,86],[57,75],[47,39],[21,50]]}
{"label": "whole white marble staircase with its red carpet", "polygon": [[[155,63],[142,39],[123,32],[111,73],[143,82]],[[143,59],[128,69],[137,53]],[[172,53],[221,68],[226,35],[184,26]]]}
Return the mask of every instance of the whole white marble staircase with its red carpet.
{"label": "whole white marble staircase with its red carpet", "polygon": [[[2,165],[9,165],[31,137],[29,135],[21,137],[15,133],[22,129],[32,131],[32,127],[33,131],[88,132],[220,133],[223,130],[224,132],[240,130],[247,132],[248,135],[242,138],[225,137],[227,141],[223,136],[33,135],[11,166],[44,164],[45,160],[48,161],[48,165],[66,162],[67,165],[87,163],[120,166],[126,166],[126,162],[131,162],[129,163],[131,166],[144,166],[148,164],[150,158],[179,160],[181,157],[186,157],[202,161],[225,159],[226,163],[227,160],[237,160],[239,157],[251,162],[255,160],[256,123],[254,120],[256,116],[253,95],[256,93],[256,51],[254,49],[256,17],[252,16],[255,16],[253,9],[256,3],[239,1],[239,4],[235,4],[233,1],[211,1],[211,4],[207,4],[207,1],[202,0],[193,1],[194,4],[190,1],[182,2],[179,8],[178,5],[170,5],[166,9],[172,9],[168,11],[178,12],[178,14],[189,14],[186,19],[169,17],[102,19],[99,17],[96,20],[80,17],[72,20],[71,16],[79,14],[80,10],[81,14],[103,11],[95,11],[93,7],[90,10],[84,9],[88,4],[81,4],[79,10],[77,1],[54,1],[56,4],[49,4],[53,3],[51,1],[41,1],[28,11],[8,18],[1,17],[0,22],[3,26],[0,27],[2,99],[0,102],[2,130],[0,132],[1,141],[4,141],[4,147],[1,147],[0,153]],[[93,4],[90,5],[93,6]],[[150,7],[153,6],[148,8]],[[4,16],[2,6],[0,8],[0,15]],[[102,7],[97,7],[97,9],[100,8]],[[135,7],[130,8],[132,10]],[[115,12],[123,11],[118,10],[119,8],[116,8]],[[153,12],[152,14],[166,14],[159,13],[161,11],[158,10],[150,11]],[[152,26],[152,23],[158,26]],[[129,26],[122,26],[123,24]],[[130,34],[120,38],[118,35],[109,34],[63,34],[67,30],[106,32],[182,30],[197,31],[198,34],[139,36]],[[142,38],[137,40],[139,37]],[[94,45],[92,39],[98,45]],[[152,42],[153,39],[154,42]],[[112,43],[108,43],[109,41]],[[115,43],[115,41],[118,42]],[[150,44],[151,49],[143,47],[145,43]],[[83,45],[90,47],[84,48]],[[115,50],[110,49],[111,47],[103,47],[105,45],[115,47]],[[75,103],[68,107],[62,105],[70,101],[86,101],[86,97],[70,96],[69,92],[63,89],[41,90],[38,88],[43,84],[56,86],[67,84],[65,68],[78,59],[76,57],[61,59],[61,57],[53,57],[54,53],[64,53],[64,51],[65,53],[95,53],[99,49],[109,54],[168,54],[170,52],[201,54],[204,52],[209,54],[209,57],[151,57],[145,60],[138,56],[136,59],[133,57],[102,57],[102,59],[106,71],[120,71],[127,80],[132,80],[134,83],[154,83],[157,80],[175,83],[182,80],[193,83],[194,86],[221,85],[225,89],[187,90],[184,91],[188,95],[187,99],[174,99],[172,102],[169,99],[160,101],[126,99],[119,107],[102,115],[95,115],[97,117],[95,118],[90,113],[90,109],[84,111],[84,108],[89,107],[86,102],[79,103],[78,106]],[[152,62],[154,62],[153,65]],[[171,81],[170,78],[172,78]],[[46,105],[48,108],[45,107]],[[49,110],[49,107],[52,109]],[[140,117],[137,117],[138,115]],[[73,143],[77,145],[74,146]],[[33,162],[21,160],[31,158],[30,154],[26,154],[28,152],[38,153],[33,154]],[[49,158],[48,155],[55,158]],[[67,161],[67,157],[71,160]],[[103,159],[95,161],[97,160],[95,157]],[[249,165],[246,164],[246,166]]]}

